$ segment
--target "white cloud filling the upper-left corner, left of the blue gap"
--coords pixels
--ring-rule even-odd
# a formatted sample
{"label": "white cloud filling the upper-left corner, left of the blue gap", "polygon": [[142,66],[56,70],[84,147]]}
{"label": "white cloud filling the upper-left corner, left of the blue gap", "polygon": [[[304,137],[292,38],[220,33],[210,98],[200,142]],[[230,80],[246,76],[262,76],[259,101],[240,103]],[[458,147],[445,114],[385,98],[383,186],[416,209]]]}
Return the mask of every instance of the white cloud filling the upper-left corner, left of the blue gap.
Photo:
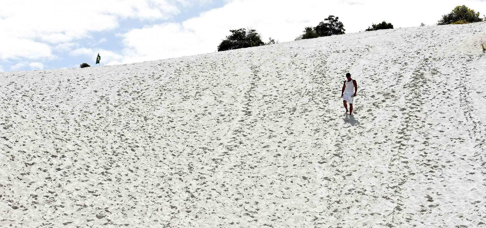
{"label": "white cloud filling the upper-left corner, left of the blue gap", "polygon": [[111,30],[120,19],[161,20],[183,0],[15,0],[0,7],[0,60],[52,58],[51,44]]}

